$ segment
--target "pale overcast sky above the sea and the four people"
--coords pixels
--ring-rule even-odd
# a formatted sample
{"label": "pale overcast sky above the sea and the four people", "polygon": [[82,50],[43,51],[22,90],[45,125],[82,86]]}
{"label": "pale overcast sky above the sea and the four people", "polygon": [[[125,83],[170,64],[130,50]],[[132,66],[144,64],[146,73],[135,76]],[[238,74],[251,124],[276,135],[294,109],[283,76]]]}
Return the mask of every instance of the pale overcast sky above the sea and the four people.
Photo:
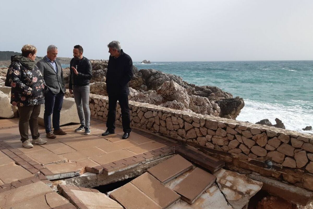
{"label": "pale overcast sky above the sea and the four people", "polygon": [[108,59],[119,40],[133,61],[313,60],[312,0],[2,1],[0,50],[49,44]]}

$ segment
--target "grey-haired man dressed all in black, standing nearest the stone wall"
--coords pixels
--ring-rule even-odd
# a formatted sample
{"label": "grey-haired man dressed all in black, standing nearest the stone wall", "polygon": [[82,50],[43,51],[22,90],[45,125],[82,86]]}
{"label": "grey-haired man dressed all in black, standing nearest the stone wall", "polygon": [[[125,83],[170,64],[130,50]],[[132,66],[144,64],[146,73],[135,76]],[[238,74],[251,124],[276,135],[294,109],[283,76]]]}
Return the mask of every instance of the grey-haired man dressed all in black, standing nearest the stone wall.
{"label": "grey-haired man dressed all in black, standing nearest the stone wall", "polygon": [[112,41],[109,47],[109,63],[106,73],[106,87],[109,95],[109,113],[106,122],[107,130],[102,136],[114,133],[116,102],[119,101],[122,112],[123,139],[129,137],[131,132],[130,113],[128,106],[129,87],[128,82],[133,77],[131,57],[123,52],[119,41]]}

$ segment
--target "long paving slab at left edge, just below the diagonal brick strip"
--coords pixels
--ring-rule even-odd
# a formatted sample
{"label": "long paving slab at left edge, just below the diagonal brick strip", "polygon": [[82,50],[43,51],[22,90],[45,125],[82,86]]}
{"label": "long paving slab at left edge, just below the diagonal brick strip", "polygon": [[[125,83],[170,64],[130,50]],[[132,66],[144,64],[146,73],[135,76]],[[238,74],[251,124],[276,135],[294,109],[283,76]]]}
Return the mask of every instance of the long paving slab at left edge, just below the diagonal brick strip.
{"label": "long paving slab at left edge, just below the diagonal brick strip", "polygon": [[52,189],[42,181],[1,192],[0,200],[6,201],[0,201],[0,208],[11,206],[49,192],[52,192]]}

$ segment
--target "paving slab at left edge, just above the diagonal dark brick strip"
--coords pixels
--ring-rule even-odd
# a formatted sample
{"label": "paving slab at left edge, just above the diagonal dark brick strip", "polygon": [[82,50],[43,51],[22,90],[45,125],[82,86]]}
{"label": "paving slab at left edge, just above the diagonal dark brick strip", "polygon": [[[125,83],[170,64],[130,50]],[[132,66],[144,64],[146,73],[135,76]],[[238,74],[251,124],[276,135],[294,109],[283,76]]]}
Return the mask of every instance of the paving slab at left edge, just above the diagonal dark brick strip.
{"label": "paving slab at left edge, just above the diagonal dark brick strip", "polygon": [[32,176],[33,174],[28,172],[22,166],[16,165],[14,163],[0,166],[0,180],[2,180],[5,184]]}

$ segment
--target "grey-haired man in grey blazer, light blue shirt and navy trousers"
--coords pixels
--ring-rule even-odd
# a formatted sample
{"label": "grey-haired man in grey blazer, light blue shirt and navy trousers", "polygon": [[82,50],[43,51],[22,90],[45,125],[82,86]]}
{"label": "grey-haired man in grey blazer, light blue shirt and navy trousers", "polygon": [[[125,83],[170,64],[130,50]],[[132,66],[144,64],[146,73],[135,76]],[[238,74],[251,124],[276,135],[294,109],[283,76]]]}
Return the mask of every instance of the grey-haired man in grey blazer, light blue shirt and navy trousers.
{"label": "grey-haired man in grey blazer, light blue shirt and navy trousers", "polygon": [[[47,49],[47,55],[36,64],[47,85],[44,94],[44,126],[47,138],[55,138],[55,135],[66,134],[60,128],[60,112],[66,89],[61,64],[56,60],[57,55],[58,48],[50,45]],[[54,128],[53,133],[51,130],[51,114]]]}

